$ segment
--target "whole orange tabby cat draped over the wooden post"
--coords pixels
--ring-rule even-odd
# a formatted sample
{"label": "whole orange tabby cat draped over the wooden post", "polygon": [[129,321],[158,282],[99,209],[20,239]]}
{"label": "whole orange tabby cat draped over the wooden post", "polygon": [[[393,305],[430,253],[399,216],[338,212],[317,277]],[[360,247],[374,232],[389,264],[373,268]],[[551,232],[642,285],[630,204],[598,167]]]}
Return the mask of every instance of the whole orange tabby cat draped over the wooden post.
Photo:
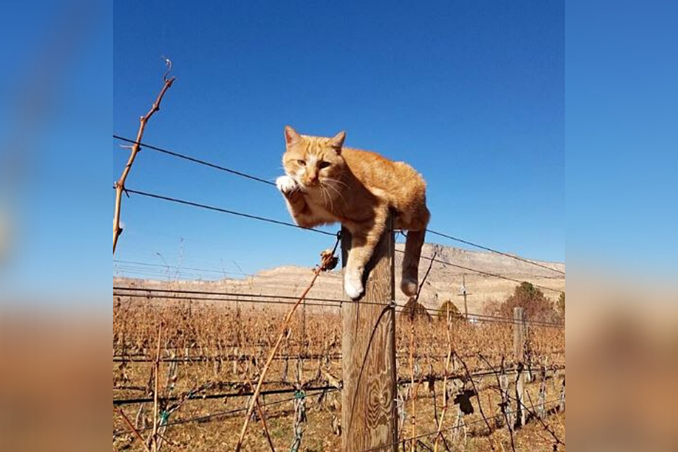
{"label": "whole orange tabby cat draped over the wooden post", "polygon": [[299,226],[340,222],[353,236],[344,273],[344,290],[363,294],[363,273],[385,229],[389,209],[395,228],[407,229],[401,289],[416,293],[419,257],[430,213],[426,183],[410,165],[374,152],[343,147],[345,132],[333,138],[297,134],[285,127],[286,176],[276,185]]}

